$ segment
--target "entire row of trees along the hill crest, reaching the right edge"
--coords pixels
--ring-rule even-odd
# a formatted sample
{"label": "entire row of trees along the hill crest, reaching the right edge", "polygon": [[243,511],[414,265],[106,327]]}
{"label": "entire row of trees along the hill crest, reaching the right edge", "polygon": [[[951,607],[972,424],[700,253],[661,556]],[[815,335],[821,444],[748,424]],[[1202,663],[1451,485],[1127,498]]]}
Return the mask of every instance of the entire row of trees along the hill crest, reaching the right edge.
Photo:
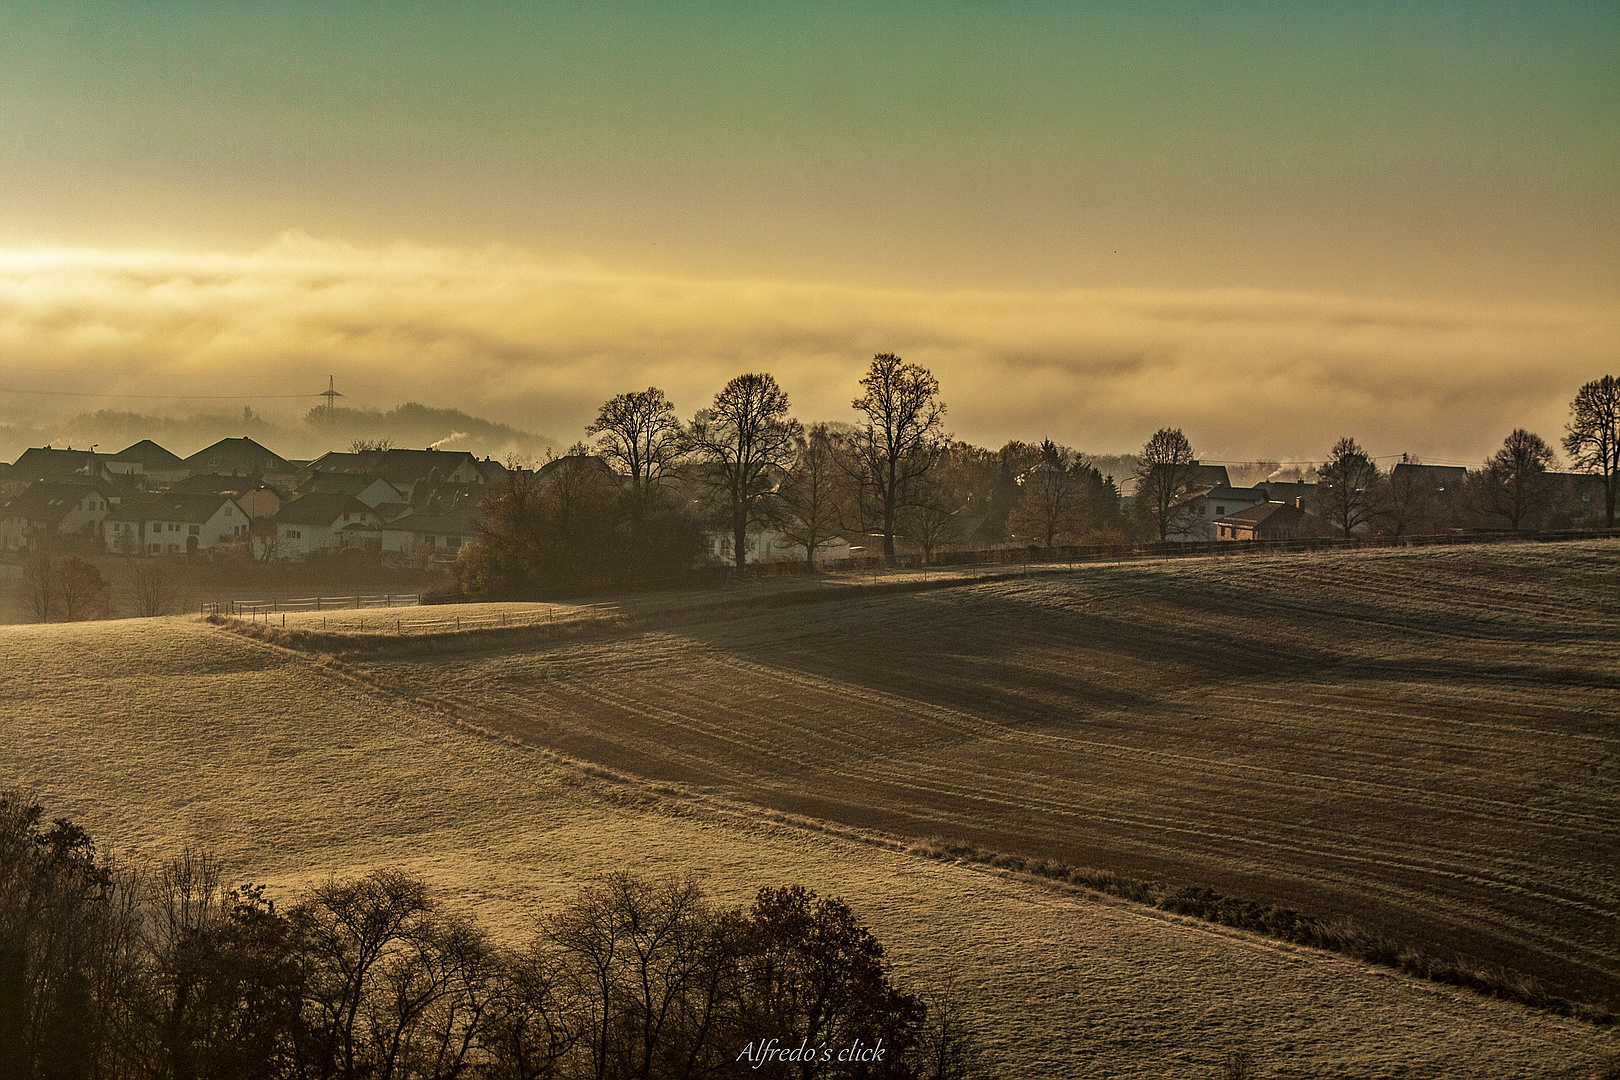
{"label": "entire row of trees along the hill crest, reaching the right edge", "polygon": [[[1174,427],[1136,455],[1129,512],[1113,476],[1053,440],[985,450],[951,437],[940,382],[893,353],[873,358],[850,405],[852,423],[805,426],[770,374],[727,382],[682,423],[656,387],[619,393],[575,444],[538,473],[514,470],[481,505],[481,536],[458,581],[480,596],[559,588],[648,585],[680,576],[723,531],[747,565],[748,536],[773,529],[808,568],[839,536],[904,541],[925,562],[946,546],[1106,544],[1184,538],[1209,489],[1197,453]],[[1620,486],[1620,387],[1604,376],[1571,403],[1563,449],[1601,478],[1614,528]],[[1403,458],[1406,460],[1406,458]],[[1411,461],[1416,463],[1416,461]],[[1463,491],[1439,491],[1419,470],[1383,471],[1351,437],[1312,470],[1314,518],[1324,534],[1529,528],[1552,520],[1555,453],[1516,429]]]}

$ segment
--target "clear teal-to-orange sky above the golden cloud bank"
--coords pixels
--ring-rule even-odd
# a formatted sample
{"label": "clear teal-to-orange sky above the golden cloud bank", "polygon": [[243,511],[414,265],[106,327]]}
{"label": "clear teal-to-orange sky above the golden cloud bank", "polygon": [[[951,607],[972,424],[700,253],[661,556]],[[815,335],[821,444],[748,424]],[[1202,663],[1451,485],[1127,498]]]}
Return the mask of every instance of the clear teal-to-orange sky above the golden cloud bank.
{"label": "clear teal-to-orange sky above the golden cloud bank", "polygon": [[1612,300],[1620,5],[5,5],[0,243]]}

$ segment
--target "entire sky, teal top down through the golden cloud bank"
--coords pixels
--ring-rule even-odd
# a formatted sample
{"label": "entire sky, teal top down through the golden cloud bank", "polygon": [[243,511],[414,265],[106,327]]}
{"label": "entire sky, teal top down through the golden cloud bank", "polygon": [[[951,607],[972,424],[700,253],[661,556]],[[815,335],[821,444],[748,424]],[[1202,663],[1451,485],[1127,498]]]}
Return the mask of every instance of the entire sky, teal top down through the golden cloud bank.
{"label": "entire sky, teal top down through the golden cloud bank", "polygon": [[[1620,372],[1620,5],[13,5],[0,423],[580,437],[875,351],[954,434],[1477,461]],[[49,392],[49,393],[45,393]]]}

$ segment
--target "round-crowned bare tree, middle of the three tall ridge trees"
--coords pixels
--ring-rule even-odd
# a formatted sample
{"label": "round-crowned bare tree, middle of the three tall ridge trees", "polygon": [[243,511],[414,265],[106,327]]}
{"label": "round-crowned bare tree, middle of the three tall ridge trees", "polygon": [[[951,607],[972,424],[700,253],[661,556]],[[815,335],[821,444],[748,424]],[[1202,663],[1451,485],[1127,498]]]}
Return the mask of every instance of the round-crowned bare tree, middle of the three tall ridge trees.
{"label": "round-crowned bare tree, middle of the three tall ridge trees", "polygon": [[737,376],[692,421],[690,445],[706,483],[724,499],[739,570],[747,560],[748,526],[792,461],[800,434],[799,421],[787,416],[787,393],[768,374]]}

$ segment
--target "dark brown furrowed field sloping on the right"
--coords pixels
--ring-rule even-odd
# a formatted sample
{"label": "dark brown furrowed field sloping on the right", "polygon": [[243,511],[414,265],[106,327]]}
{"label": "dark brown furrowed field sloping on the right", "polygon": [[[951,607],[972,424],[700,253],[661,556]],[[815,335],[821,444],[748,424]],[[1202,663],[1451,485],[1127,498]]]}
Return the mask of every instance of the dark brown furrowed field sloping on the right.
{"label": "dark brown furrowed field sloping on the right", "polygon": [[1620,544],[1085,567],[355,659],[575,758],[1280,902],[1620,1007]]}

